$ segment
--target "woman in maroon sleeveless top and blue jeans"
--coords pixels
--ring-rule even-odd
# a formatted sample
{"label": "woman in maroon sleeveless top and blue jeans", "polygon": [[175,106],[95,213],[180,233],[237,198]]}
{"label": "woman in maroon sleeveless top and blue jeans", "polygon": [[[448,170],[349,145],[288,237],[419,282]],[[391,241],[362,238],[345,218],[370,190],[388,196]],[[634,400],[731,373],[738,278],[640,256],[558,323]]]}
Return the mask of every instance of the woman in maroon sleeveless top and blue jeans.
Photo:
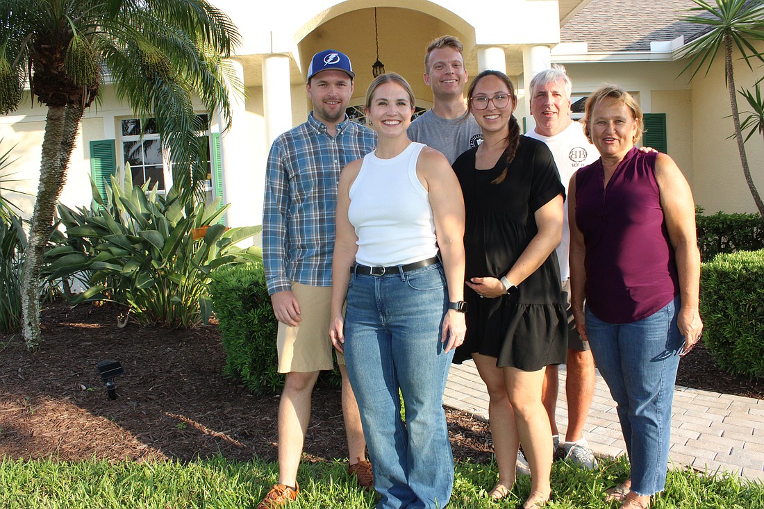
{"label": "woman in maroon sleeveless top and blue jeans", "polygon": [[703,328],[692,193],[671,157],[635,148],[642,131],[623,89],[589,96],[586,134],[601,158],[575,173],[568,196],[571,306],[617,403],[631,475],[608,499],[624,509],[665,488],[679,357]]}

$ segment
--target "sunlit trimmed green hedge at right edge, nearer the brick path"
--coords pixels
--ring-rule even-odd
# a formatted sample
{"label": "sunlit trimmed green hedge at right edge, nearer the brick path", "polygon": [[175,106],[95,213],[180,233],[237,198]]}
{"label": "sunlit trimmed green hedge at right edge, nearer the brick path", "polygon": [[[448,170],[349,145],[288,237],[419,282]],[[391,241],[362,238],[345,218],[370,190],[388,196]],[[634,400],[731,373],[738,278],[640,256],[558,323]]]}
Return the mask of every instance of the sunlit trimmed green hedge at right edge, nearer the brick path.
{"label": "sunlit trimmed green hedge at right edge, nearer the brick path", "polygon": [[717,254],[701,271],[704,342],[730,374],[764,378],[764,249]]}

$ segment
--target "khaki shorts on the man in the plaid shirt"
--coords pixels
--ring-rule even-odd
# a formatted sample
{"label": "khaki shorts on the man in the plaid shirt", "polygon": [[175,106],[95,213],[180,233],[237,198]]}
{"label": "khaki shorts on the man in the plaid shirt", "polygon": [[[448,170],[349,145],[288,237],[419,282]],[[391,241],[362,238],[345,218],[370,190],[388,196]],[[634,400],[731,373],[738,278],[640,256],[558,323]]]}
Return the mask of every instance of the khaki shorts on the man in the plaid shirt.
{"label": "khaki shorts on the man in the plaid shirt", "polygon": [[345,356],[335,351],[329,338],[332,287],[292,282],[292,293],[299,303],[301,319],[296,327],[279,322],[279,373],[334,369],[332,352],[336,353],[338,364],[344,365]]}

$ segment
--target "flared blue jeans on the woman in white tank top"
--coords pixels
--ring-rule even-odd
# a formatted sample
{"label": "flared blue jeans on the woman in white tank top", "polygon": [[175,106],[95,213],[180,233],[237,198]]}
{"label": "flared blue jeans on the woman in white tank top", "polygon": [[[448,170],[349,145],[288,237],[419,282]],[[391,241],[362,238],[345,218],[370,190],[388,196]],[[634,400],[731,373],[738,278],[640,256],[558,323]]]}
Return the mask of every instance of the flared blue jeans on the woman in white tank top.
{"label": "flared blue jeans on the woman in white tank top", "polygon": [[443,391],[454,352],[444,352],[440,341],[447,304],[441,264],[405,274],[351,274],[345,362],[381,495],[377,509],[436,509],[451,498],[454,459]]}

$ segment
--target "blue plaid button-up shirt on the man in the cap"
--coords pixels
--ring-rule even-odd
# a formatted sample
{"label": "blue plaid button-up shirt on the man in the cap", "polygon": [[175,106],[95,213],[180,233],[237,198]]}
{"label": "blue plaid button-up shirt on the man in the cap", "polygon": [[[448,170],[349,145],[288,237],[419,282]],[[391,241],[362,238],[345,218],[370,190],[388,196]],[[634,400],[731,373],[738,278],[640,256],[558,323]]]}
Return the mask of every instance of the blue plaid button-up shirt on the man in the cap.
{"label": "blue plaid button-up shirt on the man in the cap", "polygon": [[263,264],[270,295],[290,281],[332,286],[339,173],[377,146],[377,134],[350,122],[332,138],[313,118],[286,131],[268,154],[263,206]]}

